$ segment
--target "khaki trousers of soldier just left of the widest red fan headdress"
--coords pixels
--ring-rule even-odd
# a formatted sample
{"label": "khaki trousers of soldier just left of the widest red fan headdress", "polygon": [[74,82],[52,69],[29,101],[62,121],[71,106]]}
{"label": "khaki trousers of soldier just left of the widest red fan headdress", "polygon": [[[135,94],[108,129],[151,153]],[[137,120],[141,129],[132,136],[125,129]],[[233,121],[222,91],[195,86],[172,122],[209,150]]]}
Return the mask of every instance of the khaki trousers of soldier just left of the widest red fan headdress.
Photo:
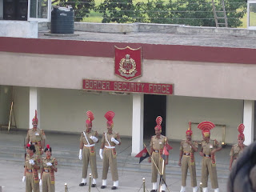
{"label": "khaki trousers of soldier just left of the widest red fan headdress", "polygon": [[191,186],[197,186],[195,165],[190,164],[190,156],[182,156],[182,186],[186,186],[187,170],[190,170]]}

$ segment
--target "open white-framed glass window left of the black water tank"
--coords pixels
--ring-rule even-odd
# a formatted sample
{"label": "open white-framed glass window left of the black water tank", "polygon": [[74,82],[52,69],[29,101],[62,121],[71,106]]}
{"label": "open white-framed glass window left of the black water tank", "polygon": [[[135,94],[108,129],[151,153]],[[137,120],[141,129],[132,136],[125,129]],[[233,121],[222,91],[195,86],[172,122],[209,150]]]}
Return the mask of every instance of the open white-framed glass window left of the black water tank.
{"label": "open white-framed glass window left of the black water tank", "polygon": [[27,20],[50,22],[51,0],[29,0]]}

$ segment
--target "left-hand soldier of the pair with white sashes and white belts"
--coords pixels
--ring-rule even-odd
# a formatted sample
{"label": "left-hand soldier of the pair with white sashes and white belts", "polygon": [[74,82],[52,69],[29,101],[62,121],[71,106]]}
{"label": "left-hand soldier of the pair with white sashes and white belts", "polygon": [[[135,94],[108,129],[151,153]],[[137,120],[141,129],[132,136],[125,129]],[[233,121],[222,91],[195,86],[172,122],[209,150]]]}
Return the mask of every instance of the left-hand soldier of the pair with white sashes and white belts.
{"label": "left-hand soldier of the pair with white sashes and white belts", "polygon": [[82,182],[79,186],[86,186],[87,169],[90,162],[90,169],[93,174],[92,187],[96,186],[96,179],[98,178],[97,164],[96,164],[96,152],[95,143],[98,142],[97,131],[92,130],[92,122],[94,120],[94,114],[88,110],[86,112],[88,119],[86,120],[86,131],[83,131],[80,137],[80,150],[79,159],[82,160]]}

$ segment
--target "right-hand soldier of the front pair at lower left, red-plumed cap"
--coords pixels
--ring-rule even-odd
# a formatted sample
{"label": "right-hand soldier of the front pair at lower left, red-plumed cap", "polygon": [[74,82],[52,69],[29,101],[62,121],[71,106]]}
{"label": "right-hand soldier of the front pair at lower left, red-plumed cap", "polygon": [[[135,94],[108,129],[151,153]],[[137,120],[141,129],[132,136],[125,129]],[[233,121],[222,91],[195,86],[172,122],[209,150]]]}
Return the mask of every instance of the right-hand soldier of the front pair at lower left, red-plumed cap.
{"label": "right-hand soldier of the front pair at lower left, red-plumed cap", "polygon": [[57,172],[58,161],[51,157],[51,147],[46,146],[46,158],[42,158],[42,179],[40,179],[40,186],[42,192],[55,192],[55,177],[54,172]]}

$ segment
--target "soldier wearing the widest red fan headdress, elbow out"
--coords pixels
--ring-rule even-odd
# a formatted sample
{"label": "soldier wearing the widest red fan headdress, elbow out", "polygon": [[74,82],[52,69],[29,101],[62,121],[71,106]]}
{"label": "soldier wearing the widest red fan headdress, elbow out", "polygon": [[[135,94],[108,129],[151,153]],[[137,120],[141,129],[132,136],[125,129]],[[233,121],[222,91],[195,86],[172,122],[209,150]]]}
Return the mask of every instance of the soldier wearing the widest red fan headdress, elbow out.
{"label": "soldier wearing the widest red fan headdress, elbow out", "polygon": [[210,174],[211,186],[214,192],[218,192],[218,178],[216,170],[215,153],[222,150],[221,144],[215,139],[210,139],[210,130],[214,129],[212,122],[201,122],[198,129],[202,130],[202,149],[199,154],[202,156],[202,191],[208,192],[208,176]]}

